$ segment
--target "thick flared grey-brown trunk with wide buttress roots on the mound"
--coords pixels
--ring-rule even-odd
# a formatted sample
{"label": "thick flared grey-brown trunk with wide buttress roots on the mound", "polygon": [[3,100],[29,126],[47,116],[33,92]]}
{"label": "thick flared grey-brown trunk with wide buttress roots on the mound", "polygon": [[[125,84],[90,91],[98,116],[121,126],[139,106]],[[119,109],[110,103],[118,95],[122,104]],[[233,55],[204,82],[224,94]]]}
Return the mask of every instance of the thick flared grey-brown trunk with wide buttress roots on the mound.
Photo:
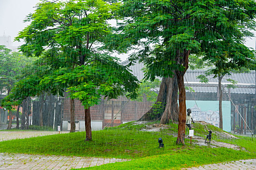
{"label": "thick flared grey-brown trunk with wide buttress roots on the mound", "polygon": [[[152,113],[154,108],[152,107],[147,113],[145,113],[139,121],[147,121],[147,120],[156,120],[161,118],[161,123],[165,124],[168,123],[169,120],[177,121],[178,120],[178,87],[177,87],[177,77],[174,75],[172,78],[170,77],[163,77],[159,93],[157,95],[156,102],[162,103],[163,111],[162,113],[155,115],[152,117]],[[175,100],[176,99],[176,100]],[[162,116],[164,115],[164,118]]]}

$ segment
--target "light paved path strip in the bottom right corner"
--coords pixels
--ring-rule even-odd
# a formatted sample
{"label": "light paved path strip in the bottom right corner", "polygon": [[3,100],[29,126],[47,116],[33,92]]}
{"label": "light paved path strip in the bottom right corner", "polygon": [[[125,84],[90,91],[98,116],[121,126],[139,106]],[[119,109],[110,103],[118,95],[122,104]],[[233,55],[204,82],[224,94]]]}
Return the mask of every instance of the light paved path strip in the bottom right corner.
{"label": "light paved path strip in the bottom right corner", "polygon": [[256,159],[210,164],[183,170],[256,170]]}

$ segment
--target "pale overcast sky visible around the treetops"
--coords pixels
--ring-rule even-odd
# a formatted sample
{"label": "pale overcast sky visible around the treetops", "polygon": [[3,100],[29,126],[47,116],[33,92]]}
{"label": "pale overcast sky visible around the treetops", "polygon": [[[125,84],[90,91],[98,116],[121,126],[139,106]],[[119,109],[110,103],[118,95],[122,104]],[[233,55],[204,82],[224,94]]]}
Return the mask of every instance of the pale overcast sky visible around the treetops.
{"label": "pale overcast sky visible around the treetops", "polygon": [[[23,20],[29,13],[33,13],[33,7],[38,2],[40,0],[0,0],[0,36],[10,35],[14,39],[28,25]],[[253,37],[245,45],[255,49],[255,42],[256,38]],[[14,42],[13,45],[19,46],[21,43]],[[126,57],[122,55],[121,58],[124,60]]]}

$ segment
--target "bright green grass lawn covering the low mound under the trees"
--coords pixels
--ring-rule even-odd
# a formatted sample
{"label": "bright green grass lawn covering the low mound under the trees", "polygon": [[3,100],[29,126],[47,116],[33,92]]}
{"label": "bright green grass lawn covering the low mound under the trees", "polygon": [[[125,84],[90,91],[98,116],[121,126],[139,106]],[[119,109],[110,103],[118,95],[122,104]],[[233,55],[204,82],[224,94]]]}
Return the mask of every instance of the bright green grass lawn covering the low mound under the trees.
{"label": "bright green grass lawn covering the low mound under the trees", "polygon": [[[227,139],[215,132],[220,129],[208,125],[213,131],[213,140],[240,146],[240,150],[228,148],[211,148],[210,146],[190,145],[186,138],[186,146],[176,145],[177,124],[169,124],[160,132],[142,132],[146,125],[155,122],[135,125],[133,122],[118,127],[93,131],[93,140],[85,142],[85,132],[40,136],[0,142],[1,153],[53,154],[68,156],[94,156],[132,159],[128,162],[106,164],[88,169],[180,169],[204,164],[220,163],[239,159],[256,158],[256,139],[239,137]],[[193,124],[195,135],[206,136],[204,126]],[[164,148],[158,148],[158,138],[162,137]]]}

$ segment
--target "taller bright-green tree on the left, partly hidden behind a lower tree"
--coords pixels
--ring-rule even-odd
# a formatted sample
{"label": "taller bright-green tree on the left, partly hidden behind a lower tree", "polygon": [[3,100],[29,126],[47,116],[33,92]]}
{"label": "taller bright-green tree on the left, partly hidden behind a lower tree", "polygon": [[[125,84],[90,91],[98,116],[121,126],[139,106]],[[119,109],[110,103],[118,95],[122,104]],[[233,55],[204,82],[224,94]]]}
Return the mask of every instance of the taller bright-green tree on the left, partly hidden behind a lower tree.
{"label": "taller bright-green tree on the left, partly hidden behind a lower tree", "polygon": [[[111,33],[107,20],[117,4],[102,0],[42,0],[27,21],[31,24],[19,33],[16,40],[24,39],[20,47],[26,55],[41,55],[48,49],[50,60],[61,60],[59,67],[74,69],[98,59],[97,54],[104,36]],[[72,106],[74,100],[71,99]],[[74,108],[70,107],[71,129],[75,131]]]}

